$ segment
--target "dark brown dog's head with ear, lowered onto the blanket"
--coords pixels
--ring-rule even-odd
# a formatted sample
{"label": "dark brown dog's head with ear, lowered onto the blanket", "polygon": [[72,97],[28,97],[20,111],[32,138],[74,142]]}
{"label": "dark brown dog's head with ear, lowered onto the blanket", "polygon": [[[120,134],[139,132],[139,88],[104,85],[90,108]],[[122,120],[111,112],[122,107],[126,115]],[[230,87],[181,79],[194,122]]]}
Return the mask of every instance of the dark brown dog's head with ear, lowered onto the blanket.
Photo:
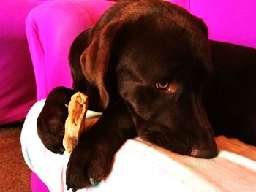
{"label": "dark brown dog's head with ear, lowered onto the blanket", "polygon": [[80,64],[99,108],[121,97],[142,139],[184,155],[217,155],[202,103],[211,74],[202,20],[165,1],[121,1],[87,35]]}

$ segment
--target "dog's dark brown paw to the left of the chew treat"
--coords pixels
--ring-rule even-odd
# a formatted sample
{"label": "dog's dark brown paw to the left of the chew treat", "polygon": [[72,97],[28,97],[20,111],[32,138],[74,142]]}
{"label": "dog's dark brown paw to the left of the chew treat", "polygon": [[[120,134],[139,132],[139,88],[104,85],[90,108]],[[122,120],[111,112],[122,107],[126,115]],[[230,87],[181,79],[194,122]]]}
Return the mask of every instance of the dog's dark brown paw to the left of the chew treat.
{"label": "dog's dark brown paw to the left of the chew treat", "polygon": [[68,115],[67,105],[74,93],[75,91],[64,87],[53,89],[37,118],[38,135],[45,147],[53,153],[64,153],[64,123]]}

